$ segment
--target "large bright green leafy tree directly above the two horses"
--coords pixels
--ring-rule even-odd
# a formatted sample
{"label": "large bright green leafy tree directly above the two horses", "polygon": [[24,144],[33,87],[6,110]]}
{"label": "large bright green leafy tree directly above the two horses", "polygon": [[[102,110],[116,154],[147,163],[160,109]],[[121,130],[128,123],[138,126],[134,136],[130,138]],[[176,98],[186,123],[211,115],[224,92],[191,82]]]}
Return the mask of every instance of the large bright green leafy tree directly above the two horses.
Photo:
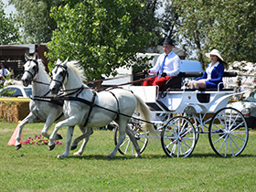
{"label": "large bright green leafy tree directly above the two horses", "polygon": [[144,8],[136,0],[89,0],[53,7],[51,16],[58,28],[48,43],[48,59],[80,60],[89,80],[129,67],[151,39],[151,33],[132,22]]}

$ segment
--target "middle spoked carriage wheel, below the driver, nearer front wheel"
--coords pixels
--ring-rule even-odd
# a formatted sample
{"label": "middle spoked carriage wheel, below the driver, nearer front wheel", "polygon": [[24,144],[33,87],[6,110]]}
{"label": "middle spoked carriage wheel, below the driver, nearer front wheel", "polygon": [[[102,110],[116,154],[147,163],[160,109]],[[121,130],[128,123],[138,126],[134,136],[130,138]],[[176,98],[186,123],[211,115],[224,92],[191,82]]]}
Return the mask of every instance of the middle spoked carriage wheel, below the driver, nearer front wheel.
{"label": "middle spoked carriage wheel, below the driver, nearer front wheel", "polygon": [[170,157],[187,157],[192,154],[197,135],[193,124],[182,116],[176,116],[165,124],[161,144]]}

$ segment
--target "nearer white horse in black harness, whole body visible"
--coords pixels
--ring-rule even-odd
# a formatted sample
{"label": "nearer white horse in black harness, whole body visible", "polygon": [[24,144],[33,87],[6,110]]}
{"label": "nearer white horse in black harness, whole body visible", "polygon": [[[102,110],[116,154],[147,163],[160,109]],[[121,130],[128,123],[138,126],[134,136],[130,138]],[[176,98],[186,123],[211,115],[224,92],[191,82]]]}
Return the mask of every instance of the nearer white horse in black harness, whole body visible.
{"label": "nearer white horse in black harness, whole body visible", "polygon": [[[63,112],[67,119],[56,124],[53,133],[49,137],[49,150],[55,147],[54,138],[62,126],[69,126],[69,130],[65,152],[58,157],[68,157],[75,125],[102,127],[114,121],[119,124],[119,141],[112,153],[107,155],[107,157],[112,158],[116,155],[117,150],[123,143],[125,133],[131,138],[137,156],[141,157],[140,147],[127,123],[136,107],[144,119],[150,121],[151,112],[147,105],[138,96],[134,95],[133,92],[123,89],[112,89],[99,93],[93,92],[82,83],[84,78],[82,73],[83,70],[78,67],[77,62],[68,62],[68,59],[64,62],[58,60],[55,68],[52,70],[53,77],[49,89],[52,94],[57,94],[63,86],[63,91],[66,95],[66,97],[63,96],[62,98],[64,100]],[[146,123],[146,130],[155,133],[155,129],[149,123]],[[88,136],[88,133],[85,134]],[[83,135],[81,136],[83,137]]]}

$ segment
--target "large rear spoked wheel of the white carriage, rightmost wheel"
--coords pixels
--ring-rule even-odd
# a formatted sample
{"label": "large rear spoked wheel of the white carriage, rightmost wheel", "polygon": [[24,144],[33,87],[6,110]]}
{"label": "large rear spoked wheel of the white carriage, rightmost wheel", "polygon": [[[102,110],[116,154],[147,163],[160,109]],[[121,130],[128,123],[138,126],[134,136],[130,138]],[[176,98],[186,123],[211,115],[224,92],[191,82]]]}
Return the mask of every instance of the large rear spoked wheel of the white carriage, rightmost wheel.
{"label": "large rear spoked wheel of the white carriage, rightmost wheel", "polygon": [[213,151],[223,157],[237,156],[248,142],[248,126],[241,112],[223,108],[209,124],[208,139]]}

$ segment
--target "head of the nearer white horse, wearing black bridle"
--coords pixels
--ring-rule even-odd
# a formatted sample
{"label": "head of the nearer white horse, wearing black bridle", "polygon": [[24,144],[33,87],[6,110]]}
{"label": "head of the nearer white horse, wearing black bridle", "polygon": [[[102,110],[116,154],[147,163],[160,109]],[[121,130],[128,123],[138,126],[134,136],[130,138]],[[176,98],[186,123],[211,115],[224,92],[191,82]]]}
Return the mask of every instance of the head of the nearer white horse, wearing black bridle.
{"label": "head of the nearer white horse, wearing black bridle", "polygon": [[68,67],[67,67],[68,59],[64,62],[61,62],[59,59],[56,62],[56,66],[52,69],[52,80],[49,85],[49,90],[52,94],[58,94],[60,88],[63,84],[65,84],[68,76]]}

